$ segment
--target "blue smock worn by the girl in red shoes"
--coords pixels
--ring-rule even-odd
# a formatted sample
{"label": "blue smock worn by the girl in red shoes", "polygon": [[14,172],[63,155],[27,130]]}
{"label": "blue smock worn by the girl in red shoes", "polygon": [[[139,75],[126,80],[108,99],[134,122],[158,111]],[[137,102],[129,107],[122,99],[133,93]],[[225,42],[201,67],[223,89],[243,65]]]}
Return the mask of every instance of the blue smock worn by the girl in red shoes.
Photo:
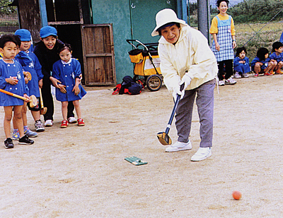
{"label": "blue smock worn by the girl in red shoes", "polygon": [[62,85],[66,85],[67,93],[62,93],[58,88],[56,89],[56,99],[60,102],[71,102],[81,99],[86,95],[86,90],[79,85],[80,93],[75,95],[73,92],[76,78],[81,75],[81,64],[76,59],[70,59],[68,63],[64,61],[56,61],[53,65],[52,76],[57,78]]}

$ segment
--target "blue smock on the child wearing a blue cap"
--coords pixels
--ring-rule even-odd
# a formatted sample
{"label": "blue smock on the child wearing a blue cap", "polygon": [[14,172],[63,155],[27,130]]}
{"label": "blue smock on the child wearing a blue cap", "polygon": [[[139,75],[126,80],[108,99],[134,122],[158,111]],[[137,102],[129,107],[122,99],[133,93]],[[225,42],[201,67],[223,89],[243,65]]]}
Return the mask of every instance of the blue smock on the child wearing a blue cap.
{"label": "blue smock on the child wearing a blue cap", "polygon": [[[22,63],[23,54],[25,54],[26,56],[30,58],[30,59],[25,59],[25,63]],[[38,81],[43,78],[43,74],[41,72],[40,61],[38,61],[37,56],[33,54],[33,52],[20,52],[16,56],[16,60],[22,63],[24,71],[28,71],[31,74],[31,80],[28,81],[28,84],[27,84],[29,95],[35,95],[35,97],[40,97]]]}

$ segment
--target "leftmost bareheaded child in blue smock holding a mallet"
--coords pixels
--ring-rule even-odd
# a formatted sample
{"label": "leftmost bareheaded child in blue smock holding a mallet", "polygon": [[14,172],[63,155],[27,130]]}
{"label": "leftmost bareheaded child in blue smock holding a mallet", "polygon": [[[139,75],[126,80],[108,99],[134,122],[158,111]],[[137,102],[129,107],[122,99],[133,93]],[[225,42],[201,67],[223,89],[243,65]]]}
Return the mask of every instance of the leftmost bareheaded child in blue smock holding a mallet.
{"label": "leftmost bareheaded child in blue smock holding a mallet", "polygon": [[[2,35],[0,38],[0,52],[3,57],[0,60],[0,88],[30,99],[26,94],[27,91],[25,89],[23,68],[18,61],[13,60],[17,54],[16,44],[17,42],[13,35]],[[4,147],[13,148],[13,141],[10,138],[12,114],[16,118],[16,125],[18,126],[20,134],[18,143],[32,145],[34,143],[33,140],[30,140],[28,135],[25,135],[23,132],[23,119],[21,113],[23,109],[23,100],[1,92],[0,102],[1,106],[4,106],[5,113],[4,131],[6,140],[4,141]]]}

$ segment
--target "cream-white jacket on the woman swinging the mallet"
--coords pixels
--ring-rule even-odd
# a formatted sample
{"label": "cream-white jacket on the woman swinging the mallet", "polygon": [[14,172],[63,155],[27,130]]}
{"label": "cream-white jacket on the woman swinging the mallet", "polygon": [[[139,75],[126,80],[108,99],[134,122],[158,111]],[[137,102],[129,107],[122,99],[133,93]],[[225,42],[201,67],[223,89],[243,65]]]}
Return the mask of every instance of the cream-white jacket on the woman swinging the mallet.
{"label": "cream-white jacket on the woman swinging the mallet", "polygon": [[192,90],[216,78],[218,67],[215,56],[202,32],[185,26],[174,45],[161,37],[158,45],[163,81],[169,91],[180,82],[185,71],[192,81],[186,90]]}

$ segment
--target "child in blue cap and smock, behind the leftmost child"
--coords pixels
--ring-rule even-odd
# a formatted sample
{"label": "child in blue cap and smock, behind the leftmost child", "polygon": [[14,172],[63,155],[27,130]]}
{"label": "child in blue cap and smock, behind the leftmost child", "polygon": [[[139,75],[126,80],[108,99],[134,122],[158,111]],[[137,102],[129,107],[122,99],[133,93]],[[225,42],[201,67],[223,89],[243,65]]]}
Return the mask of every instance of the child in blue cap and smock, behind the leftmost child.
{"label": "child in blue cap and smock, behind the leftmost child", "polygon": [[[20,52],[16,56],[16,60],[21,63],[24,71],[28,71],[31,74],[31,80],[28,81],[27,84],[28,92],[29,92],[28,94],[35,95],[35,97],[37,97],[37,102],[40,102],[39,88],[42,87],[43,75],[41,73],[41,65],[37,59],[37,56],[35,56],[33,52],[29,52],[31,46],[30,31],[25,29],[16,30],[15,35],[18,36],[21,40]],[[35,120],[35,131],[37,132],[45,131],[43,123],[40,120],[40,107],[37,104],[36,107],[31,108],[29,104],[26,104],[24,102],[23,111],[22,111],[23,129],[25,135],[28,135],[28,137],[37,137],[37,133],[30,131],[30,129],[28,128],[28,120],[26,114],[27,105],[28,105],[28,109],[30,109],[31,114],[33,115],[33,119]],[[13,123],[14,123],[14,117],[13,117]],[[13,140],[18,140],[18,138],[19,138],[18,129],[14,125]]]}

